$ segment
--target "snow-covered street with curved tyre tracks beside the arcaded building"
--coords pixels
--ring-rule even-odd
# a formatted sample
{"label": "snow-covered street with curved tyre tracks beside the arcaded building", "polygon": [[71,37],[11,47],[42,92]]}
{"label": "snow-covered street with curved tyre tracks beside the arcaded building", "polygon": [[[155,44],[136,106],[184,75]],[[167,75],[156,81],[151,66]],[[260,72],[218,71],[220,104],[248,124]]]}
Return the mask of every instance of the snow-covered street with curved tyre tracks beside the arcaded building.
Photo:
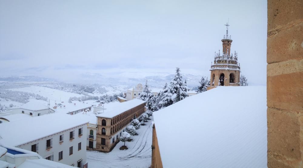
{"label": "snow-covered street with curved tyre tracks beside the arcaded building", "polygon": [[[114,168],[114,167],[138,167],[147,168],[151,166],[151,120],[137,130],[139,135],[131,136],[132,142],[125,142],[128,150],[120,150],[123,142],[119,142],[109,153],[98,151],[86,151],[88,167],[90,168]],[[143,121],[141,122],[143,123]]]}

